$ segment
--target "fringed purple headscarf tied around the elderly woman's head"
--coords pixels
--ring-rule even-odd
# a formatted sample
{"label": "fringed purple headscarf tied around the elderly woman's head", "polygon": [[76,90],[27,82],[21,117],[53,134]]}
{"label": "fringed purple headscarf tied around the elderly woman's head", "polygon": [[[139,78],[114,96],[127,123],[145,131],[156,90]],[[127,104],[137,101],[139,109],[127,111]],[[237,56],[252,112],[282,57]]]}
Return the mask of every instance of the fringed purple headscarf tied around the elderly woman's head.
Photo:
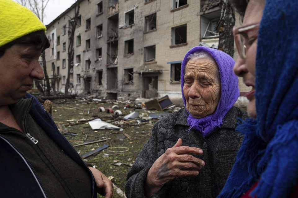
{"label": "fringed purple headscarf tied around the elderly woman's head", "polygon": [[220,127],[223,123],[223,118],[226,113],[232,108],[237,98],[240,95],[238,88],[238,78],[233,72],[233,66],[235,61],[228,54],[213,48],[208,48],[204,46],[196,46],[189,50],[183,58],[181,64],[181,91],[184,106],[186,108],[186,100],[183,94],[184,85],[184,70],[187,62],[187,57],[195,52],[206,51],[215,60],[219,67],[220,81],[221,81],[221,97],[219,99],[216,110],[213,114],[207,115],[204,118],[194,118],[188,112],[187,123],[189,124],[189,129],[194,128],[200,131],[205,137],[210,134],[216,127]]}

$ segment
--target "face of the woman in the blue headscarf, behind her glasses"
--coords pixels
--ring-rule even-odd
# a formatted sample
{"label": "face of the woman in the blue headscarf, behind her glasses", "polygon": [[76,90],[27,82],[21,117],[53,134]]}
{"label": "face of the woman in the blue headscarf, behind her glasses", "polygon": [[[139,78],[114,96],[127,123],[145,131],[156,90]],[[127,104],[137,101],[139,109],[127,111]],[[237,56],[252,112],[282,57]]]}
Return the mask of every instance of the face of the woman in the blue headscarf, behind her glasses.
{"label": "face of the woman in the blue headscarf, behind her glasses", "polygon": [[[243,26],[259,23],[263,15],[264,6],[260,5],[257,1],[250,1],[247,5]],[[252,91],[246,94],[249,100],[247,105],[247,112],[250,117],[256,118],[255,109],[255,58],[257,52],[257,38],[258,31],[250,31],[246,34],[245,45],[247,47],[246,58],[242,60],[237,58],[234,65],[234,73],[237,76],[243,77],[243,82],[246,86],[251,86]]]}

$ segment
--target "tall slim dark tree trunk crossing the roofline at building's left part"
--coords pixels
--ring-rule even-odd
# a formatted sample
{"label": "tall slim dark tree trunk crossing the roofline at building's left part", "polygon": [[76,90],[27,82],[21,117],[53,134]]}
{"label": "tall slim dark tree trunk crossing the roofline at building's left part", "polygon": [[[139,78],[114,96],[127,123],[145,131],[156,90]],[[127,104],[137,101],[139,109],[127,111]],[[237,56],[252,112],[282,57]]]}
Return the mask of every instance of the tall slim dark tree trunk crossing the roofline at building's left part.
{"label": "tall slim dark tree trunk crossing the roofline at building's left part", "polygon": [[70,19],[69,21],[69,29],[68,29],[68,51],[67,51],[67,57],[68,57],[68,64],[67,64],[67,79],[65,83],[65,92],[64,95],[67,96],[68,89],[70,87],[70,69],[73,67],[74,62],[74,40],[75,40],[75,28],[77,27],[78,23],[78,16],[79,16],[79,9],[80,9],[80,0],[77,0],[77,7],[75,7],[75,16],[74,18]]}

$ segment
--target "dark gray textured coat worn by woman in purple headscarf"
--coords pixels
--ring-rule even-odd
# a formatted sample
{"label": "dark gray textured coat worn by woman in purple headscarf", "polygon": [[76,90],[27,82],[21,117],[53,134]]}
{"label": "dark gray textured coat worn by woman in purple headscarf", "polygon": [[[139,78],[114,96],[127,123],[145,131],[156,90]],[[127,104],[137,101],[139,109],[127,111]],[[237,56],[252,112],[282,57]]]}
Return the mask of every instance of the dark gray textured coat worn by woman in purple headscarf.
{"label": "dark gray textured coat worn by woman in purple headscarf", "polygon": [[154,161],[173,147],[178,138],[182,145],[198,147],[203,154],[195,155],[205,161],[205,166],[195,177],[181,177],[166,183],[152,197],[212,198],[224,187],[241,146],[242,136],[235,132],[237,118],[247,118],[246,111],[233,106],[224,117],[221,127],[204,137],[191,129],[188,133],[185,108],[161,118],[152,128],[152,133],[127,174],[125,194],[128,198],[144,198],[144,181]]}

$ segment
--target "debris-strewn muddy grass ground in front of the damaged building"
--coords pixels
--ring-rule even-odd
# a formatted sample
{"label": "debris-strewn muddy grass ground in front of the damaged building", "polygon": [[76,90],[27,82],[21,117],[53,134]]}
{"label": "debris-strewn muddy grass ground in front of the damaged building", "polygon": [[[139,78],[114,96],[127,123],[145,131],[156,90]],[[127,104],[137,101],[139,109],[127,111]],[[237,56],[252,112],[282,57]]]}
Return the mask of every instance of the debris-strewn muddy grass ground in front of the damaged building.
{"label": "debris-strewn muddy grass ground in front of the damaged building", "polygon": [[[111,139],[98,143],[76,146],[75,149],[80,155],[83,155],[104,144],[108,144],[108,148],[100,151],[96,156],[90,156],[84,160],[87,163],[95,165],[95,167],[102,171],[107,177],[111,177],[111,181],[124,192],[126,174],[130,169],[129,164],[133,164],[143,145],[150,137],[151,128],[158,119],[150,119],[146,122],[139,121],[138,123],[135,118],[124,122],[119,120],[119,118],[115,118],[114,114],[97,111],[97,108],[100,106],[108,108],[113,105],[118,105],[119,110],[122,111],[123,115],[138,111],[139,118],[148,117],[149,113],[157,111],[146,109],[135,110],[133,108],[124,109],[126,104],[130,104],[134,107],[134,101],[106,101],[106,103],[98,103],[98,101],[93,101],[90,98],[81,97],[76,99],[52,100],[52,102],[52,118],[56,122],[61,133],[64,134],[74,146],[88,141]],[[169,112],[173,110],[174,109],[169,110]],[[123,131],[109,129],[92,130],[86,120],[94,119],[98,116],[102,121],[122,127]],[[108,154],[108,157],[106,154]],[[118,162],[121,162],[122,165],[113,165]],[[124,163],[128,165],[124,165]],[[123,197],[116,192],[114,192],[114,194],[115,198]]]}

